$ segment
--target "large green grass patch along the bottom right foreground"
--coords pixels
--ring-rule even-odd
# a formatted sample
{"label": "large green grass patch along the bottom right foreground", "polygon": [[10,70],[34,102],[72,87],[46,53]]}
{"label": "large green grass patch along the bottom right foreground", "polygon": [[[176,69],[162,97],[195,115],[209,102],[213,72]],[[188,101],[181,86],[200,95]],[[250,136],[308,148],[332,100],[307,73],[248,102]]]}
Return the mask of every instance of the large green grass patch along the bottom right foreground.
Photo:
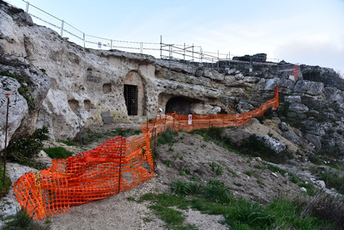
{"label": "large green grass patch along the bottom right foreground", "polygon": [[[171,189],[177,195],[145,194],[140,198],[153,203],[149,208],[166,223],[168,229],[186,227],[184,214],[174,207],[222,215],[222,224],[227,224],[230,229],[341,229],[340,224],[330,222],[329,218],[322,220],[321,216],[311,216],[312,211],[305,213],[308,203],[300,202],[298,198],[278,197],[265,205],[235,199],[219,180],[209,180],[205,184],[176,180]],[[224,196],[228,199],[223,199]]]}

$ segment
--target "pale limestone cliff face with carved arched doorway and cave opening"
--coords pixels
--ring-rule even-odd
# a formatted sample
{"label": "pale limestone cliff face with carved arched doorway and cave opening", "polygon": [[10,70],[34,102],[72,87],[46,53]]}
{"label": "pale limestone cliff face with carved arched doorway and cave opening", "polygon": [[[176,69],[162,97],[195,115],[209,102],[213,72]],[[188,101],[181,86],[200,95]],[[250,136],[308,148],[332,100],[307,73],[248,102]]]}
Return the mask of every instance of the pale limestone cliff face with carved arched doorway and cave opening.
{"label": "pale limestone cliff face with carved arched doorway and cave opening", "polygon": [[[26,69],[21,73],[36,74],[32,82],[45,89],[34,90],[42,92],[34,95],[39,113],[21,112],[28,104],[23,98],[15,101],[12,114],[21,116],[12,117],[11,134],[23,134],[23,129],[15,132],[14,127],[20,124],[32,130],[45,123],[52,138],[73,138],[79,116],[83,126],[102,124],[100,113],[105,111],[115,122],[153,118],[159,108],[195,114],[246,112],[272,98],[279,85],[281,107],[273,115],[299,130],[294,132],[285,125],[286,137],[313,149],[344,147],[339,141],[344,135],[344,83],[332,69],[301,65],[297,76],[291,78],[290,72],[279,72],[278,66],[266,63],[265,54],[236,58],[230,63],[220,61],[212,67],[119,50],[90,50],[35,25],[21,10],[1,4],[0,15],[1,54],[24,56]],[[1,70],[19,72],[1,64]],[[279,65],[292,64],[282,61]],[[12,85],[7,90],[19,98],[18,81],[1,78],[1,83]],[[1,90],[5,87],[1,85]],[[4,100],[1,91],[2,114]],[[1,116],[1,127],[3,121]],[[28,122],[23,125],[23,121]]]}

